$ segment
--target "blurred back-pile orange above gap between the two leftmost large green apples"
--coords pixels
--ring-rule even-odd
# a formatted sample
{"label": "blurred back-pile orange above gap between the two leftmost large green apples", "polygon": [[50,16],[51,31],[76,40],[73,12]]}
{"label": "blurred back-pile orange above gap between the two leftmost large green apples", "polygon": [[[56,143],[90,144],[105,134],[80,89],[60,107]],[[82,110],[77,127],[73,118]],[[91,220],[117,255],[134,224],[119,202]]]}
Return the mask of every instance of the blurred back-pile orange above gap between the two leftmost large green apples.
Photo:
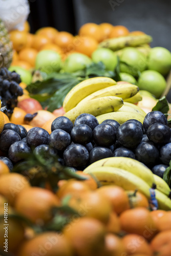
{"label": "blurred back-pile orange above gap between the two leftmost large green apples", "polygon": [[54,38],[54,44],[59,46],[63,52],[68,52],[73,50],[73,40],[74,36],[66,31],[59,32]]}

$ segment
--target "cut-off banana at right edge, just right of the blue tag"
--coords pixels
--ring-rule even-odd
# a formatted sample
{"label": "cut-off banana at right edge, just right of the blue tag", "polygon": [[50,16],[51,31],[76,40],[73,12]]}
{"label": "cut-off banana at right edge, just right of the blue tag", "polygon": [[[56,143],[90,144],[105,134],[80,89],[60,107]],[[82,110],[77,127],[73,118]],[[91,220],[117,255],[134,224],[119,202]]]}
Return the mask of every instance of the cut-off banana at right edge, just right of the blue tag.
{"label": "cut-off banana at right edge, just right of the blue tag", "polygon": [[155,189],[158,208],[161,210],[171,210],[171,200],[158,189]]}

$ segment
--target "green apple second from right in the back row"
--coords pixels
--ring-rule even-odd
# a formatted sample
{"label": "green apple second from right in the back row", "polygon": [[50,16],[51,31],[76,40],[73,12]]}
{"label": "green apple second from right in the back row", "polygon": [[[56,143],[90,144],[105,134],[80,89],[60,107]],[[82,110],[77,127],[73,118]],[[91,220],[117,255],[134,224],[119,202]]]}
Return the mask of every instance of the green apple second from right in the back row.
{"label": "green apple second from right in the back row", "polygon": [[[120,55],[120,72],[138,76],[147,67],[146,56],[134,47],[126,47]],[[122,63],[125,62],[125,63]]]}

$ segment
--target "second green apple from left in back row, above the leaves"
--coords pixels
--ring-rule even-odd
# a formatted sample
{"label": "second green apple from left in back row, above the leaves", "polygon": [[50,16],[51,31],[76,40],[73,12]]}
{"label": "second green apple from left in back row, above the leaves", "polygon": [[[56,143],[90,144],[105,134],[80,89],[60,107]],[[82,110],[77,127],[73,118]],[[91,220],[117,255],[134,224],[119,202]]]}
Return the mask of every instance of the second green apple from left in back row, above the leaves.
{"label": "second green apple from left in back row, above the leaves", "polygon": [[83,70],[87,65],[92,63],[92,59],[82,53],[70,54],[63,63],[65,72],[73,73],[78,70]]}

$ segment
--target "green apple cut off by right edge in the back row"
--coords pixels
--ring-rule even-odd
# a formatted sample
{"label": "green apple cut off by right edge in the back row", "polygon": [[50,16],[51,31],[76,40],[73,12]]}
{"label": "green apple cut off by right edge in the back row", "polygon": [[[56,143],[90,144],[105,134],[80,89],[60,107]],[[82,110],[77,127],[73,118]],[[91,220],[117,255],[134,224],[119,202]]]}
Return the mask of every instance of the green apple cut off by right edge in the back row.
{"label": "green apple cut off by right edge in the back row", "polygon": [[171,69],[171,53],[163,47],[154,47],[148,55],[147,67],[156,70],[163,76]]}

